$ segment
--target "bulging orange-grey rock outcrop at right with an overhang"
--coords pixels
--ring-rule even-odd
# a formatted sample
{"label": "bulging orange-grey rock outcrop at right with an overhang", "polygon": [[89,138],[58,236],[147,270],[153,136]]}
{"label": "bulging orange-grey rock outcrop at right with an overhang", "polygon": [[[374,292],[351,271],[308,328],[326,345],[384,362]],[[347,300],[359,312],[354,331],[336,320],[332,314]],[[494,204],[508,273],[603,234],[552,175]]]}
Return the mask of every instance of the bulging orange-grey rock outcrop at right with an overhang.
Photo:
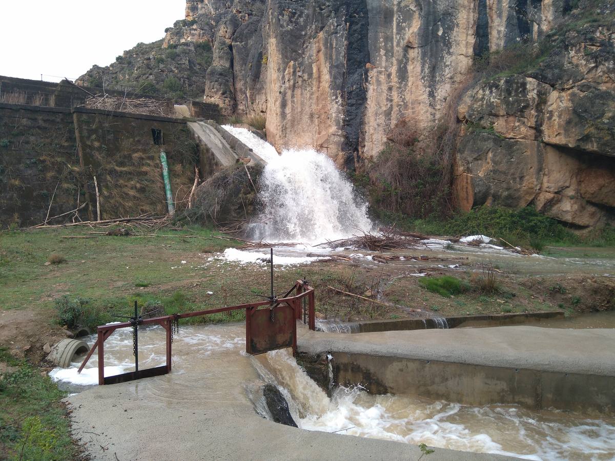
{"label": "bulging orange-grey rock outcrop at right with an overhang", "polygon": [[536,71],[478,84],[459,104],[456,199],[613,223],[615,34],[589,23],[552,40]]}

